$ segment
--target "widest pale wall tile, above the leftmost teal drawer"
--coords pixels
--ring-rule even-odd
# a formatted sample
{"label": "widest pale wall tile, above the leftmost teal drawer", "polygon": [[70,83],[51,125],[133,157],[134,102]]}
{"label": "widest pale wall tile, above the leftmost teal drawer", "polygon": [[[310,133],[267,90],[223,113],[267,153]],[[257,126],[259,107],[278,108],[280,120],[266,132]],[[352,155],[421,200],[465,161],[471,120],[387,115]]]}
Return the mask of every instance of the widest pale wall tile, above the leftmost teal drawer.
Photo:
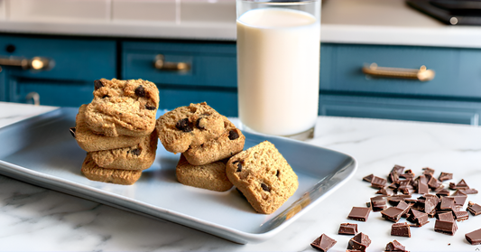
{"label": "widest pale wall tile, above the leftmost teal drawer", "polygon": [[111,0],[5,0],[10,20],[109,20]]}

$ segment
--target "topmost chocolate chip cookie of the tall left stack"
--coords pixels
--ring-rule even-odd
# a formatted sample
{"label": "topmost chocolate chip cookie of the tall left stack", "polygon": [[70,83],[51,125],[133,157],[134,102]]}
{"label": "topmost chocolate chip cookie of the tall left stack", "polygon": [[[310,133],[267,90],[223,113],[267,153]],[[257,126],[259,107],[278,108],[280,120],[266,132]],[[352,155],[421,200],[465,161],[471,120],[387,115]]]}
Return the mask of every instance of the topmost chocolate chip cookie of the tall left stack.
{"label": "topmost chocolate chip cookie of the tall left stack", "polygon": [[85,119],[90,130],[106,136],[143,136],[153,132],[159,89],[143,79],[97,79]]}

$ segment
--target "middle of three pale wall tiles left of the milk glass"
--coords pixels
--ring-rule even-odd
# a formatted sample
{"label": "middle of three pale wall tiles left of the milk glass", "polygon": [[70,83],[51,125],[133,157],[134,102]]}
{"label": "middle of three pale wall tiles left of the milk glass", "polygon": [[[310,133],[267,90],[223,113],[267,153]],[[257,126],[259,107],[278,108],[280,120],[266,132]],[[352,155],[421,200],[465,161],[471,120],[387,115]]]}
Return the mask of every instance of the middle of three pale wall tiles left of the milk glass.
{"label": "middle of three pale wall tiles left of the milk glass", "polygon": [[179,0],[112,0],[112,20],[175,22]]}

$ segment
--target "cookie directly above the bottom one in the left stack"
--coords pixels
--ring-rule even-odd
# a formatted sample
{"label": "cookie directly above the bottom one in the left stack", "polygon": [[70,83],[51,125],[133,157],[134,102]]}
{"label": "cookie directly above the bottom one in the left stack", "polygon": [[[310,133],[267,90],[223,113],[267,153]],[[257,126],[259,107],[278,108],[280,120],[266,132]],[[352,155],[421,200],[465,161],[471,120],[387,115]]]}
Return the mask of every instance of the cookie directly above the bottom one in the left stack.
{"label": "cookie directly above the bottom one in the left stack", "polygon": [[138,145],[92,152],[92,159],[98,166],[106,169],[145,170],[151,167],[155,160],[155,151],[159,138],[157,131],[143,136]]}

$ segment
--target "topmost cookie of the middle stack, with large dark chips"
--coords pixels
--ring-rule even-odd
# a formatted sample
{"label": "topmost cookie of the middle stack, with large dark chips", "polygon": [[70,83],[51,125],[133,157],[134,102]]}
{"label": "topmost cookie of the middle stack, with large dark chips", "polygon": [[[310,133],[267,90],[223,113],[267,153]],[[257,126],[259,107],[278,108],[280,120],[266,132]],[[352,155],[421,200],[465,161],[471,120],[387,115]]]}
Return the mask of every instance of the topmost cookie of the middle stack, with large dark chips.
{"label": "topmost cookie of the middle stack, with large dark chips", "polygon": [[190,145],[203,145],[224,133],[224,118],[207,103],[177,107],[157,119],[159,138],[171,153],[184,153]]}

